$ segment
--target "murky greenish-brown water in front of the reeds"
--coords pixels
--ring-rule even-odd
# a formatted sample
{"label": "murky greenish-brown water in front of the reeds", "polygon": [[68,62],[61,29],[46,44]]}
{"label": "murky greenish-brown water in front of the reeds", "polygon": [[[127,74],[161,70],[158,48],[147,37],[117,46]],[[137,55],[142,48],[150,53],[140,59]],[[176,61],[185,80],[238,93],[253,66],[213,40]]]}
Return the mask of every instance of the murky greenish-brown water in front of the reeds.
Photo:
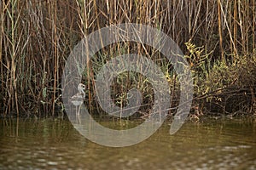
{"label": "murky greenish-brown water in front of the reeds", "polygon": [[0,169],[256,168],[252,117],[187,122],[173,136],[166,122],[149,139],[124,148],[94,144],[67,120],[2,119],[0,124]]}

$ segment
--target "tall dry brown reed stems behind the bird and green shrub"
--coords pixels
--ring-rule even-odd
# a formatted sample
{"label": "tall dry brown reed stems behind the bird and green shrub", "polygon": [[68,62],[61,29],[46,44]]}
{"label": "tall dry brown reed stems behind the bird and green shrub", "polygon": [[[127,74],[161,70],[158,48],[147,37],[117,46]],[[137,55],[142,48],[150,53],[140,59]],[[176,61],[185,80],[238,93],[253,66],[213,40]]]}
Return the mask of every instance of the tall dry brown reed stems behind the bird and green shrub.
{"label": "tall dry brown reed stems behind the bird and green shrub", "polygon": [[[256,48],[254,0],[4,0],[0,8],[0,111],[5,116],[12,112],[54,116],[61,103],[65,59],[80,39],[104,26],[125,22],[153,26],[183,51],[189,40],[203,45],[212,51],[212,62],[236,62]],[[128,52],[132,48],[145,53],[140,44]],[[115,44],[112,50],[121,49]],[[91,101],[93,88],[89,92]]]}

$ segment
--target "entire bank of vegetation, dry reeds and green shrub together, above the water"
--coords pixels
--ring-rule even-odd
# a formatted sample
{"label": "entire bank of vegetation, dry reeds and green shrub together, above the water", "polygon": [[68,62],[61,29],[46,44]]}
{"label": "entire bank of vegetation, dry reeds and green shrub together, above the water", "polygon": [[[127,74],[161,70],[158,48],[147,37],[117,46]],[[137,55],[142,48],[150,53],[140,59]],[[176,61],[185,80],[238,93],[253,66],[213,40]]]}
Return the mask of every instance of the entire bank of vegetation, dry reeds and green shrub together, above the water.
{"label": "entire bank of vegetation, dry reeds and green shrub together, above the water", "polygon": [[[249,103],[246,108],[250,109],[246,111],[253,112],[253,105],[256,105],[255,8],[253,0],[1,1],[1,116],[56,116],[56,111],[62,109],[61,74],[73,47],[93,31],[127,22],[160,29],[177,42],[194,71],[195,103],[201,108],[209,108],[206,105],[212,102],[221,105],[225,108],[222,111],[227,113],[227,102],[238,105],[236,111]],[[153,54],[154,49],[142,48],[142,44],[125,43],[125,47],[113,44],[102,49],[97,57],[103,64],[109,54],[134,51],[137,54],[150,52],[149,57],[156,63],[162,60],[160,54]],[[84,73],[84,82],[88,87],[90,108],[98,108],[94,102],[93,71],[101,63],[93,63],[90,62],[92,72]],[[177,91],[172,65],[166,61],[159,64],[170,79],[170,87]],[[117,96],[119,105],[125,99],[127,88],[136,86],[133,82],[148,94],[143,101],[145,104],[153,101],[150,86],[142,85],[144,77],[124,73],[119,79],[119,82],[130,83],[130,86],[119,82],[113,85],[116,93],[113,97]],[[233,91],[236,88],[238,97],[233,99],[234,93],[228,93],[232,91],[229,88]],[[238,102],[237,98],[241,100]]]}

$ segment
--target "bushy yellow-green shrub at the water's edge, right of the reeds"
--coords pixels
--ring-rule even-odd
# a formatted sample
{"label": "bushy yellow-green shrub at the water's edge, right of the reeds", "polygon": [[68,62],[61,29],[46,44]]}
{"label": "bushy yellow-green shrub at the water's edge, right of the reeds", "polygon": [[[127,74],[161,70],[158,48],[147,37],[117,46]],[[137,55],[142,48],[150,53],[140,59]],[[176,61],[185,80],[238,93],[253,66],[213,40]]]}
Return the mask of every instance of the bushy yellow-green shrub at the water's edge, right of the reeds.
{"label": "bushy yellow-green shrub at the water's edge, right of the reeds", "polygon": [[[190,70],[193,74],[195,99],[200,99],[200,105],[211,102],[211,105],[221,108],[224,113],[237,110],[253,111],[256,87],[256,54],[236,56],[234,59],[212,60],[203,47],[196,47],[187,42],[189,50]],[[216,106],[218,105],[218,106]],[[245,106],[247,105],[247,106]],[[252,104],[253,105],[253,104]],[[246,109],[245,109],[246,108]],[[207,109],[209,110],[209,109]]]}

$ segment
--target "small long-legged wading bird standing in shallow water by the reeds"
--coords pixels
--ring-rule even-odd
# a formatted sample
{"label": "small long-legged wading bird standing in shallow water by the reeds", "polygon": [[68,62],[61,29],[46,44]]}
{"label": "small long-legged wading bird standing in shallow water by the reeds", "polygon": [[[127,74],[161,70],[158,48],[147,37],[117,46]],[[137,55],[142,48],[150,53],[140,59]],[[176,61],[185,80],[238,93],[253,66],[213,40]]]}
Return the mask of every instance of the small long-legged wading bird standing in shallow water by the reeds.
{"label": "small long-legged wading bird standing in shallow water by the reeds", "polygon": [[[76,106],[76,116],[79,116],[81,105],[84,103],[84,99],[85,99],[84,89],[85,89],[85,85],[83,83],[79,83],[78,85],[79,93],[73,95],[70,98],[71,103]],[[79,106],[79,111],[78,111],[78,106]]]}

